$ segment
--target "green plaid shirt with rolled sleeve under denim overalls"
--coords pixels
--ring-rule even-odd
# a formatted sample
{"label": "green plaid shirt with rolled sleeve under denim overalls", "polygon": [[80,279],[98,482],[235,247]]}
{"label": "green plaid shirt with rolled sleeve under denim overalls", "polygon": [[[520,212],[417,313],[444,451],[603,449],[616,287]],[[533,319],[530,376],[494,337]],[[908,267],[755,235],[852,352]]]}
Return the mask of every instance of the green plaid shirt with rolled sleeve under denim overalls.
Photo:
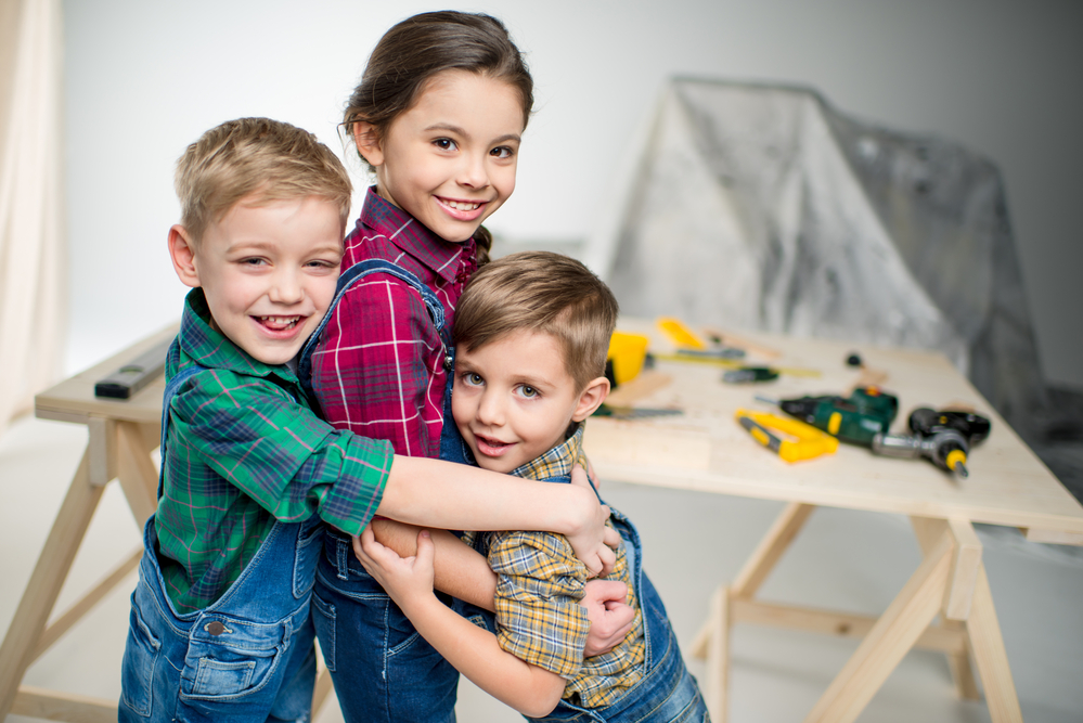
{"label": "green plaid shirt with rolled sleeve under denim overalls", "polygon": [[[276,519],[312,515],[360,534],[391,468],[387,442],[334,429],[285,365],[262,364],[209,325],[203,289],[184,304],[166,375],[195,374],[170,403],[155,514],[166,591],[178,612],[217,601]],[[298,401],[301,400],[301,401]]]}

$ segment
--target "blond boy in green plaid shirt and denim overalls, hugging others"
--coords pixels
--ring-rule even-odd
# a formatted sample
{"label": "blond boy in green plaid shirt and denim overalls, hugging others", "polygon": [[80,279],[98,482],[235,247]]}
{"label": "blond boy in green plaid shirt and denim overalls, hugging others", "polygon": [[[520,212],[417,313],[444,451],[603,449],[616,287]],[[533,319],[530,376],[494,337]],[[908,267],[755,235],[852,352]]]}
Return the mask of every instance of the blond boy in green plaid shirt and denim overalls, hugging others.
{"label": "blond boy in green plaid shirt and denim overalls, hugging others", "polygon": [[[542,485],[508,492],[499,476],[395,456],[310,410],[292,362],[334,297],[350,202],[328,149],[242,118],[189,146],[176,185],[169,254],[192,292],[166,363],[163,476],[132,595],[121,721],[307,720],[324,524],[357,534],[378,512],[537,526],[573,533],[603,566],[607,511],[589,489],[563,502]],[[530,514],[517,513],[525,503]]]}

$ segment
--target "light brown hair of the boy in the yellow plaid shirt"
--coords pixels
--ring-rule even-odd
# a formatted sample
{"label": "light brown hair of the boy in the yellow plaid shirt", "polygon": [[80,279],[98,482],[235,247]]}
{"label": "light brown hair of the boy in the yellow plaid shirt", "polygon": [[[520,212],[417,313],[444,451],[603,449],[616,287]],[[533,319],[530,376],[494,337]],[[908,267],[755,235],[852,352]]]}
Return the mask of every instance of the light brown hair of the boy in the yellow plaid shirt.
{"label": "light brown hair of the boy in the yellow plaid shirt", "polygon": [[480,349],[519,330],[553,335],[577,391],[605,374],[617,299],[579,261],[520,251],[481,267],[455,307],[455,345]]}

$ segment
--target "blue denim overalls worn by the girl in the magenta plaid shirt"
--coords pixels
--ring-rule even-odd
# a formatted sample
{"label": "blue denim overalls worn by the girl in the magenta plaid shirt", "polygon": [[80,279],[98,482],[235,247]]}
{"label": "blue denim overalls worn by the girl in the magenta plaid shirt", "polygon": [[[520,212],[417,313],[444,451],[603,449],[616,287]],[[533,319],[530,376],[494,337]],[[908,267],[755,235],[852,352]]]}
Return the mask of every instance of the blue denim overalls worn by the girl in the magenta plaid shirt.
{"label": "blue denim overalls worn by the girl in the magenta plaid shirt", "polygon": [[[417,276],[390,261],[366,259],[343,273],[331,310],[301,350],[298,377],[311,389],[312,351],[343,295],[371,273],[390,274],[417,289],[444,346],[448,385],[443,396],[440,459],[465,463],[463,441],[451,417],[455,352],[443,305]],[[414,630],[353,554],[349,535],[327,527],[312,595],[312,619],[347,723],[452,722],[459,671]],[[495,631],[491,612],[453,597],[437,596],[456,612]]]}

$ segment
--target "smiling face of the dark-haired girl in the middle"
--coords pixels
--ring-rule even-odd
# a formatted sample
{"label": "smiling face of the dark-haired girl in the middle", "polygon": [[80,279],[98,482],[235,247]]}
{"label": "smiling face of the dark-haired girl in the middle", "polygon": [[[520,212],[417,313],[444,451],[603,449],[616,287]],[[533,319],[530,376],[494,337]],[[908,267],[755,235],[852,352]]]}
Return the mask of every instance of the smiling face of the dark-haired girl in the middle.
{"label": "smiling face of the dark-haired girl in the middle", "polygon": [[443,70],[383,138],[353,128],[379,195],[447,241],[470,238],[515,190],[523,101],[506,81]]}

